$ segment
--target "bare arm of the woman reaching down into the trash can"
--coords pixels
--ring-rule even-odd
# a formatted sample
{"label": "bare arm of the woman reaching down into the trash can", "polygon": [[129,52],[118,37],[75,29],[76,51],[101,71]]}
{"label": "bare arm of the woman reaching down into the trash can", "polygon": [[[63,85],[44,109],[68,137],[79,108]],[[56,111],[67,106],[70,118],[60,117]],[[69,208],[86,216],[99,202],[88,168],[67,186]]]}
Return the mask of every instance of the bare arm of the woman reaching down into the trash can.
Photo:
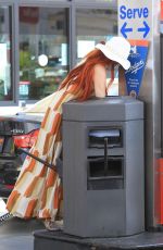
{"label": "bare arm of the woman reaching down into the trash can", "polygon": [[106,88],[106,70],[101,64],[95,65],[93,86],[95,96],[104,98]]}

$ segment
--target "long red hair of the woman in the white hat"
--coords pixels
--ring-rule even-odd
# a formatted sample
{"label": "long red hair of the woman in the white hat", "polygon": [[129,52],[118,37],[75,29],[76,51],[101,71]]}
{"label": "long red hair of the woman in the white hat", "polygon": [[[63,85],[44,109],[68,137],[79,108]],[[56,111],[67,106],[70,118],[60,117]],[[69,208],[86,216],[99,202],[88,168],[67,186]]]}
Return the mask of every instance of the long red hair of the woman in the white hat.
{"label": "long red hair of the woman in the white hat", "polygon": [[67,74],[59,89],[75,85],[75,91],[83,89],[83,93],[78,100],[84,101],[88,99],[93,89],[93,67],[96,64],[102,64],[104,66],[111,65],[113,71],[116,63],[108,59],[99,49],[95,49],[83,59],[80,64]]}

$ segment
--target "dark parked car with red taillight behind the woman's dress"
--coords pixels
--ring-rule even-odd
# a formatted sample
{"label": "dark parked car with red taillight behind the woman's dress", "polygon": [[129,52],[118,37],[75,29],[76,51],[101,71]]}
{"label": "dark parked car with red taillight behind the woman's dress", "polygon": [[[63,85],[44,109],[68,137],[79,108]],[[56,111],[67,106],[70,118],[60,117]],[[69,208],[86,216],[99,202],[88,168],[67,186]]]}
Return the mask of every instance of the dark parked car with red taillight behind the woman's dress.
{"label": "dark parked car with red taillight behind the woman's dress", "polygon": [[36,141],[42,115],[0,116],[0,198],[7,199],[17,179],[26,154]]}

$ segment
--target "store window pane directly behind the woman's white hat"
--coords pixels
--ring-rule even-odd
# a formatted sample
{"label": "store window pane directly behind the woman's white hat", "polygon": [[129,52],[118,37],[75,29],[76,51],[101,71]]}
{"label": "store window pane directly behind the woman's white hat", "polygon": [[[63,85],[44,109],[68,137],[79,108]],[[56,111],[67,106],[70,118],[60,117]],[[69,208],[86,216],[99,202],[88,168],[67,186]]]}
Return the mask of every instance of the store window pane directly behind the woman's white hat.
{"label": "store window pane directly behind the woman's white hat", "polygon": [[[114,9],[77,9],[76,11],[77,54],[76,62],[95,48],[100,41],[106,41],[117,35],[117,11]],[[118,95],[118,71],[110,88],[110,96]],[[108,75],[108,83],[111,75]]]}

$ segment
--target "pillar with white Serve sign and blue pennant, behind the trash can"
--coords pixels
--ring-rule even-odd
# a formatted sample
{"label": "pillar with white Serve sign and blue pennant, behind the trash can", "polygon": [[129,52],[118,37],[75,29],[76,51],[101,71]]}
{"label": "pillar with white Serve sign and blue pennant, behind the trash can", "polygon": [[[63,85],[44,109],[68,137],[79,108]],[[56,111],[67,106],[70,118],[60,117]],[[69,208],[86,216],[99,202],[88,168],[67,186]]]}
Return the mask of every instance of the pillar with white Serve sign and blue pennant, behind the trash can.
{"label": "pillar with white Serve sign and blue pennant, behind the trash can", "polygon": [[[138,96],[145,102],[146,225],[147,228],[153,228],[163,226],[163,191],[160,191],[159,186],[163,187],[163,171],[161,175],[158,172],[159,160],[163,162],[161,1],[117,0],[117,9],[118,36],[131,42],[131,53],[128,58],[131,67],[125,77],[124,74],[120,77],[122,93],[127,89],[130,96]],[[125,83],[127,86],[124,90]]]}

